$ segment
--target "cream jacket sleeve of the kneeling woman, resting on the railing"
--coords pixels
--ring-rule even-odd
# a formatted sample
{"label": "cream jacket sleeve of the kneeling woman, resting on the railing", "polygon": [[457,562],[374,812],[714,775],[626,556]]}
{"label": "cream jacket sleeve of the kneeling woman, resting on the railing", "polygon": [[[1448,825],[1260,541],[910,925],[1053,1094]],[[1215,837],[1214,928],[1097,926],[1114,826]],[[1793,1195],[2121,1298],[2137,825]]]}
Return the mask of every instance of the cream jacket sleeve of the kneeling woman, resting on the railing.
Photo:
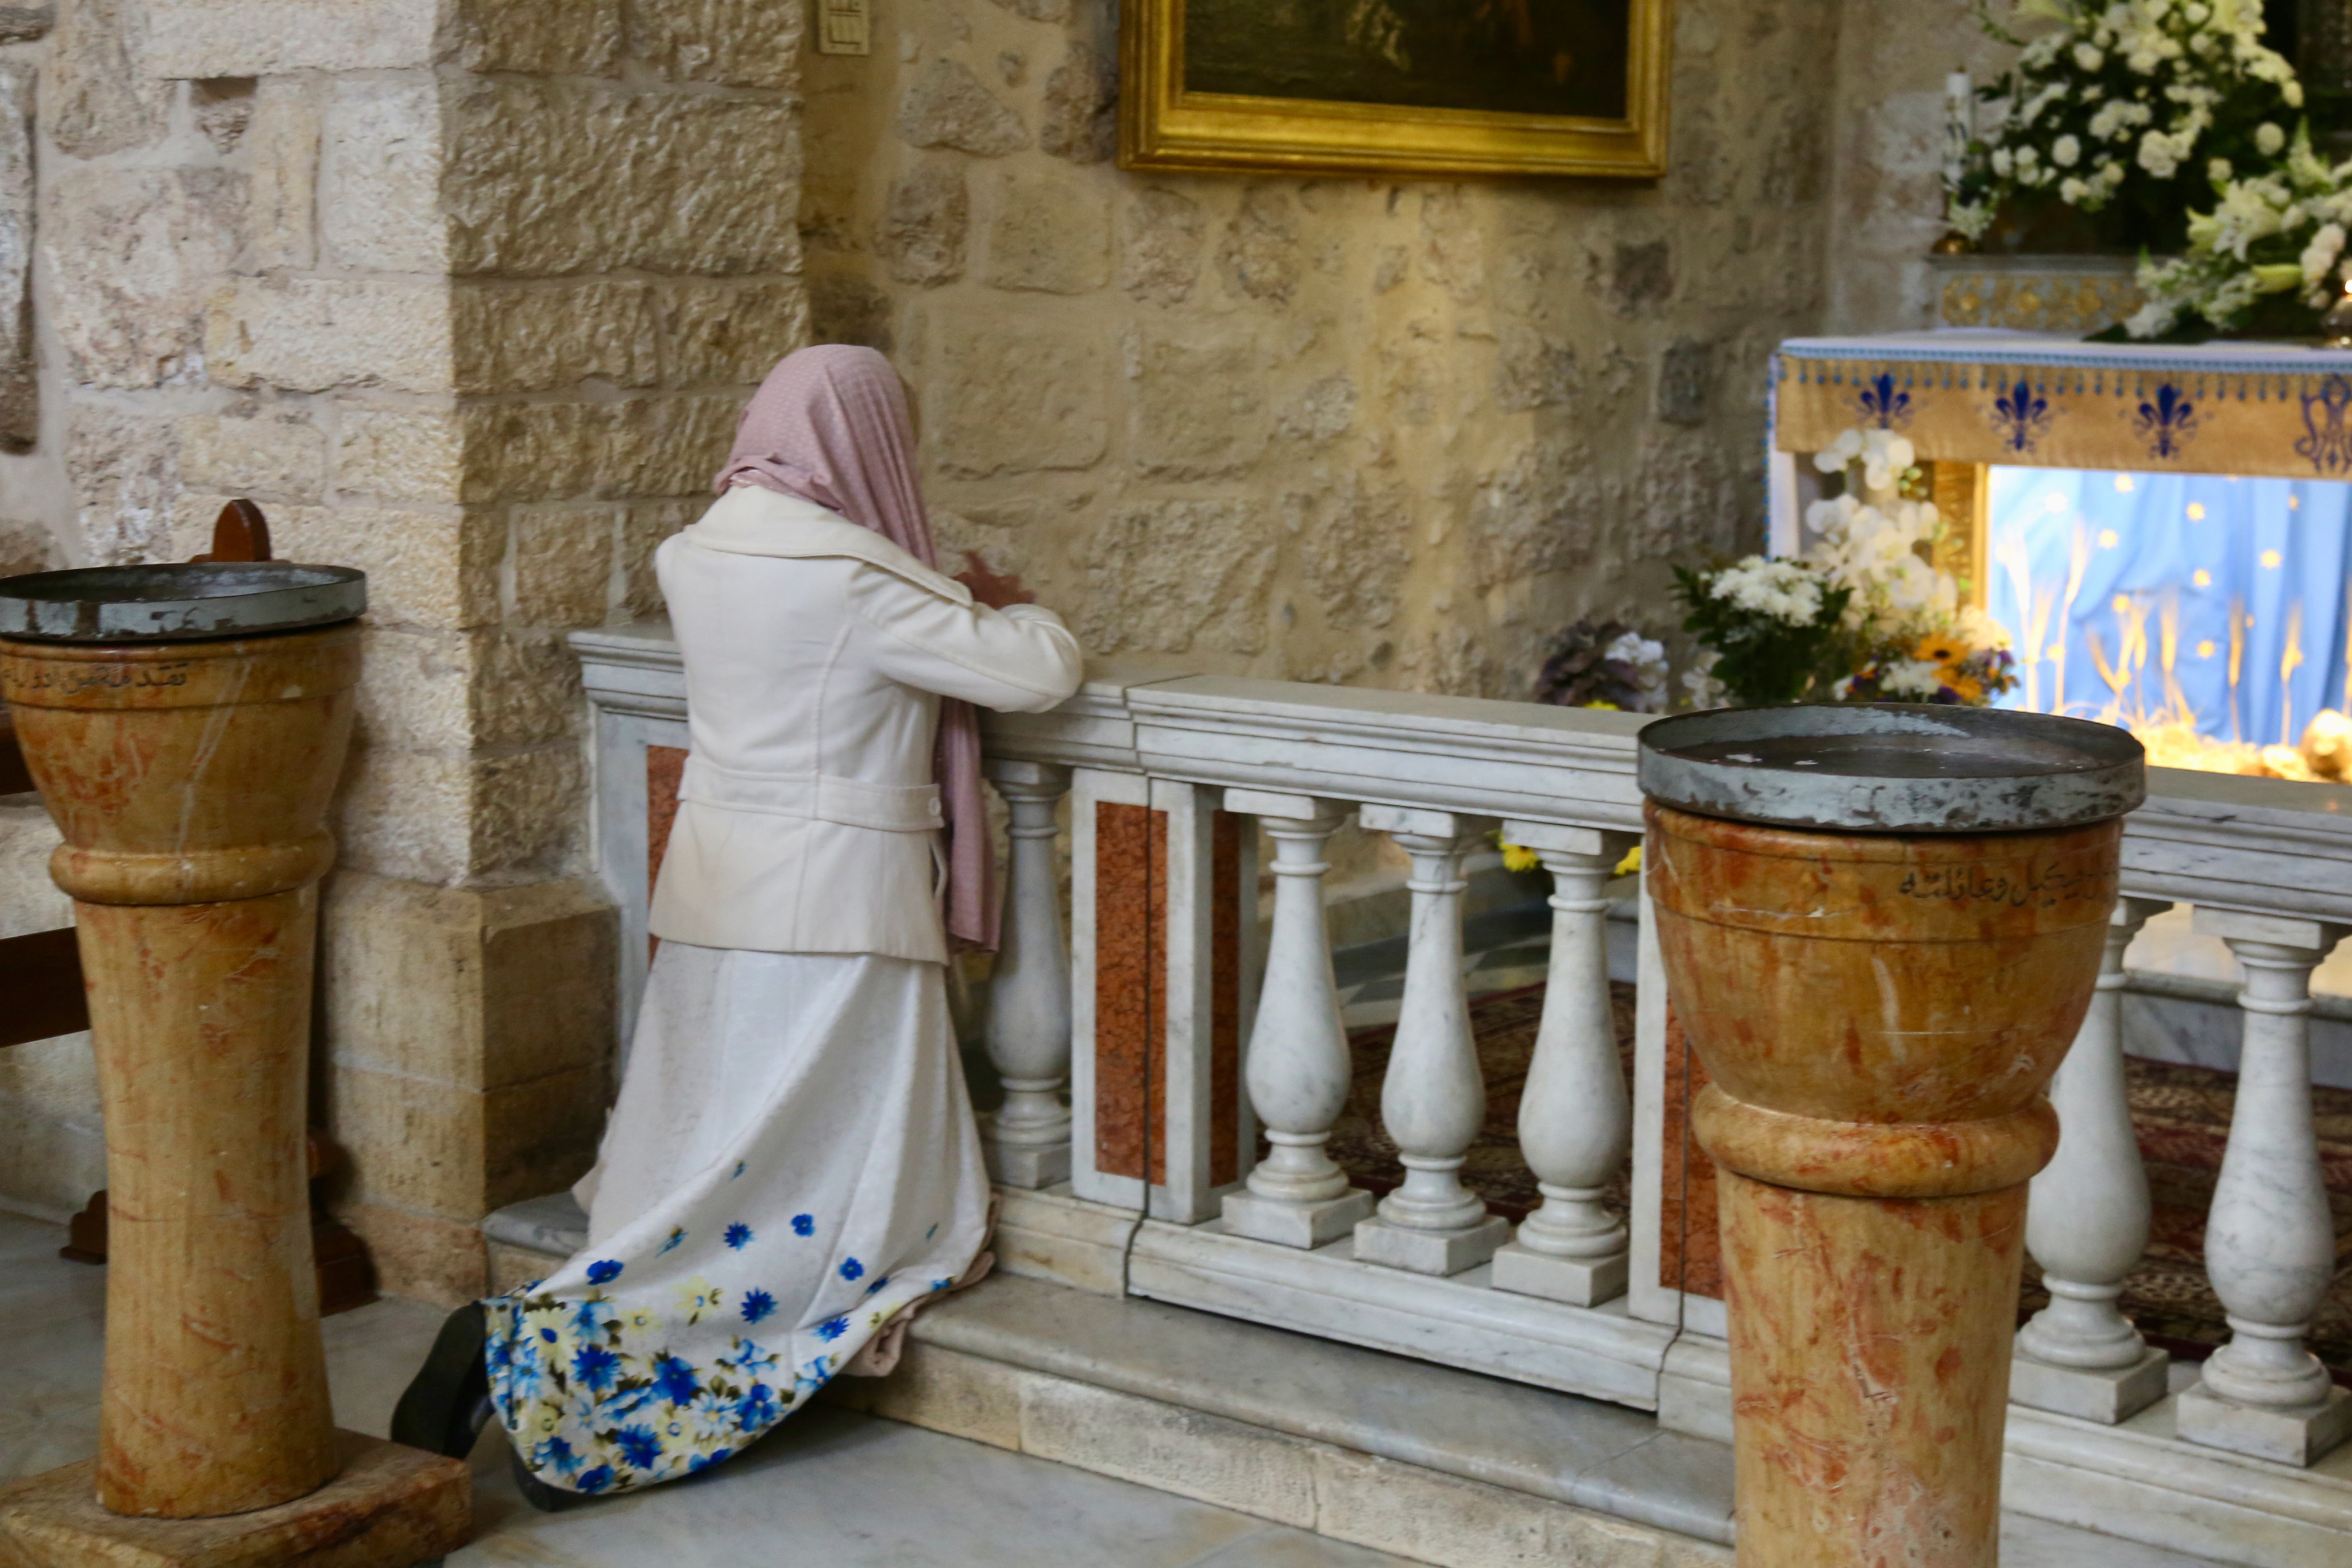
{"label": "cream jacket sleeve of the kneeling woman, resting on the railing", "polygon": [[1035,604],[957,604],[861,564],[849,578],[849,609],[884,675],[981,708],[1042,712],[1068,701],[1087,672],[1070,628]]}

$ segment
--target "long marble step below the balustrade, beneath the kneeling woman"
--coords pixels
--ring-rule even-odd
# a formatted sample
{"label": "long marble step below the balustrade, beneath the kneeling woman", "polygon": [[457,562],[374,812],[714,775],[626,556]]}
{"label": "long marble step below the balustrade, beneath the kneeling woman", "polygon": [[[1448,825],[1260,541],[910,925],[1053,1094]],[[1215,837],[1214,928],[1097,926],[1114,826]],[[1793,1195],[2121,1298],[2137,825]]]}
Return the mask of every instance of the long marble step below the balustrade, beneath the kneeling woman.
{"label": "long marble step below the balustrade, beneath the kneeling woman", "polygon": [[[586,1241],[569,1194],[482,1225],[501,1274]],[[1442,1568],[1731,1563],[1731,1448],[1573,1394],[1190,1307],[997,1274],[830,1403]],[[2004,1568],[2213,1568],[2009,1514]]]}

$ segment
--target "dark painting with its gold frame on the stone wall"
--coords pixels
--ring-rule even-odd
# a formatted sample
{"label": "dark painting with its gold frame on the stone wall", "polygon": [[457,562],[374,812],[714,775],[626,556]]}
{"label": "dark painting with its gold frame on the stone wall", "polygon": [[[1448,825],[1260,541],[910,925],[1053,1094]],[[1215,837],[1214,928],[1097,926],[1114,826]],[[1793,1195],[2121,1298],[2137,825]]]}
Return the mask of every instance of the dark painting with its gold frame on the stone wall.
{"label": "dark painting with its gold frame on the stone wall", "polygon": [[1127,0],[1120,167],[1665,172],[1672,0]]}

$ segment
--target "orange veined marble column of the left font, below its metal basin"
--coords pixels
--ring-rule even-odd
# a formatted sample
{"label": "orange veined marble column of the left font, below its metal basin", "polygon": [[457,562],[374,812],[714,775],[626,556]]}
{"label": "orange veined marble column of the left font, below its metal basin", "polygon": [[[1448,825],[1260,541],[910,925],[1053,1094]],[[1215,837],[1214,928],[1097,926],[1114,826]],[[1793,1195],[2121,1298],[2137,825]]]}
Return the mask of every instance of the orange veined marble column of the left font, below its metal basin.
{"label": "orange veined marble column of the left font, below its metal basin", "polygon": [[355,625],[0,639],[92,992],[111,1194],[96,1490],[118,1514],[263,1509],[341,1462],[303,1126],[358,672]]}

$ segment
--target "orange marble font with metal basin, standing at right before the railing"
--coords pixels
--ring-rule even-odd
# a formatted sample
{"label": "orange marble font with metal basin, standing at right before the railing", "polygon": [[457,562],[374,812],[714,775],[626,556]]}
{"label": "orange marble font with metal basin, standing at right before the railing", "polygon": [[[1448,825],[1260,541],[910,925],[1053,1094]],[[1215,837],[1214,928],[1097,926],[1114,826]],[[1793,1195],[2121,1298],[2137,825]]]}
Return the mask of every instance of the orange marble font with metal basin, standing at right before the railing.
{"label": "orange marble font with metal basin, standing at right before the railing", "polygon": [[[2098,980],[2138,745],[1912,712],[1642,738],[1658,952],[1712,1074],[1691,1131],[1722,1180],[1743,1568],[1999,1559],[2025,1197],[2058,1147],[2042,1091]],[[1677,726],[1686,750],[1653,743]]]}

